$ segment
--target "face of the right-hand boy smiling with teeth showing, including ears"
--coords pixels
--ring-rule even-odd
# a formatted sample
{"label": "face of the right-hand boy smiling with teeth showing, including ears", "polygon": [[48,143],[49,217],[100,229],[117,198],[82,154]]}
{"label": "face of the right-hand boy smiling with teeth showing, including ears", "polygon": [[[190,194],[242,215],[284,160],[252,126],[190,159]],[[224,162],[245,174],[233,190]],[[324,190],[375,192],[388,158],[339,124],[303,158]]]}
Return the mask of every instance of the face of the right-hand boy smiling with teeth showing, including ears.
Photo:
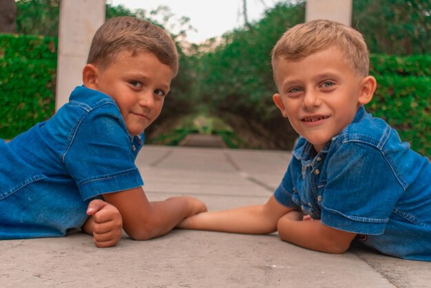
{"label": "face of the right-hand boy smiling with teeth showing, including ears", "polygon": [[274,75],[275,105],[317,152],[352,123],[376,86],[373,77],[357,76],[336,46],[300,61],[278,59]]}

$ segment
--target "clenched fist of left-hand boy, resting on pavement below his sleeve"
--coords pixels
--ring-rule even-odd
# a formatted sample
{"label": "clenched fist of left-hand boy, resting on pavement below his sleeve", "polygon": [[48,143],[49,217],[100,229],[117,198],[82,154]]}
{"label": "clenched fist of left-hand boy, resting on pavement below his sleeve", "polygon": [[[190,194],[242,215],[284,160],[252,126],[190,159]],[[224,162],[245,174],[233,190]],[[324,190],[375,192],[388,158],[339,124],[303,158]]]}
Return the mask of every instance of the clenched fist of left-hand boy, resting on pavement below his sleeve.
{"label": "clenched fist of left-hand boy, resting on pavement below his sleeve", "polygon": [[123,218],[114,205],[103,200],[92,200],[87,208],[90,217],[83,229],[93,235],[97,247],[115,246],[121,238],[123,231]]}

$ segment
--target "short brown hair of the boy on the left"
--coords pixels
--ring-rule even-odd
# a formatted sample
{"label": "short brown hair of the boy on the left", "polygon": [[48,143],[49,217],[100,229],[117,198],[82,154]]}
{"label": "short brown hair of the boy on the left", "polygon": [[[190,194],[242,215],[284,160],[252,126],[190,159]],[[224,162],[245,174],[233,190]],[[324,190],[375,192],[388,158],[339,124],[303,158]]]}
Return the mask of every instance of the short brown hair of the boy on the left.
{"label": "short brown hair of the boy on the left", "polygon": [[87,63],[107,68],[120,52],[150,52],[178,73],[178,52],[169,34],[149,21],[134,17],[109,19],[94,34]]}

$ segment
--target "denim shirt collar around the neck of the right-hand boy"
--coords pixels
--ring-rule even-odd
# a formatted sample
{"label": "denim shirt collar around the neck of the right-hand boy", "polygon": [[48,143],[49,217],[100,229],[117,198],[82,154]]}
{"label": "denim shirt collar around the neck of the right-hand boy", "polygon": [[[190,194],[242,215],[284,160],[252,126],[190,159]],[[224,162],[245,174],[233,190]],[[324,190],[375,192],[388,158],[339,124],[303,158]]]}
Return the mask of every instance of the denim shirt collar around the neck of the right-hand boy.
{"label": "denim shirt collar around the neck of the right-hand boy", "polygon": [[[358,123],[364,117],[366,116],[366,111],[364,106],[359,107],[359,109],[356,112],[355,119],[353,119],[352,123]],[[296,146],[296,149],[293,150],[292,154],[297,160],[302,162],[302,165],[304,166],[310,166],[312,165],[318,157],[320,157],[322,154],[327,154],[330,148],[330,145],[346,130],[346,127],[341,130],[341,132],[333,138],[330,139],[328,143],[323,147],[323,149],[317,153],[313,144],[308,142],[306,138],[301,137],[298,141],[298,144]]]}

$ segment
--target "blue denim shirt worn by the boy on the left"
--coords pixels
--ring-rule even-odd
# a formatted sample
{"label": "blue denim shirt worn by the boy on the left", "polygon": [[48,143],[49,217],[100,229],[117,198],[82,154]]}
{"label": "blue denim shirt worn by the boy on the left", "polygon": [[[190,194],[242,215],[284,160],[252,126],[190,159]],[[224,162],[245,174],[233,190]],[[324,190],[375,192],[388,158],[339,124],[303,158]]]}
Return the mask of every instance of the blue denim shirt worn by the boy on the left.
{"label": "blue denim shirt worn by the boy on the left", "polygon": [[0,141],[0,239],[64,236],[81,227],[92,198],[143,185],[115,101],[84,87],[43,123]]}

